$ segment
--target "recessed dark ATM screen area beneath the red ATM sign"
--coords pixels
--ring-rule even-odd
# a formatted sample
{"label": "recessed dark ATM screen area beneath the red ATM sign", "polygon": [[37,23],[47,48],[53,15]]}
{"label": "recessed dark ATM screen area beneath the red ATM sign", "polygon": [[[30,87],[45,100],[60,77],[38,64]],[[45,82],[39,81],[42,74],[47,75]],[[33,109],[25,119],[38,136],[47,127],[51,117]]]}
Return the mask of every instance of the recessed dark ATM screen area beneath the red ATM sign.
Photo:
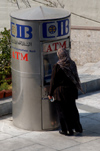
{"label": "recessed dark ATM screen area beneath the red ATM sign", "polygon": [[58,61],[57,53],[46,54],[43,56],[44,64],[44,85],[49,85],[51,80],[53,65]]}

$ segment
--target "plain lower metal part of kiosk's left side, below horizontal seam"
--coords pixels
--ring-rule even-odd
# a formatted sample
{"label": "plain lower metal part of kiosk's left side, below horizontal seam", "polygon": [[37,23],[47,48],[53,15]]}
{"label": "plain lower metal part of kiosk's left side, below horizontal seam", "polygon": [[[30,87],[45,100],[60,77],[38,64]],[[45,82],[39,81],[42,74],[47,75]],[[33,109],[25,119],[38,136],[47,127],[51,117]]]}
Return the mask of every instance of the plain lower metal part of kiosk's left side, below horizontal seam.
{"label": "plain lower metal part of kiosk's left side, below horizontal seam", "polygon": [[27,130],[41,130],[40,75],[19,74],[12,70],[13,122]]}

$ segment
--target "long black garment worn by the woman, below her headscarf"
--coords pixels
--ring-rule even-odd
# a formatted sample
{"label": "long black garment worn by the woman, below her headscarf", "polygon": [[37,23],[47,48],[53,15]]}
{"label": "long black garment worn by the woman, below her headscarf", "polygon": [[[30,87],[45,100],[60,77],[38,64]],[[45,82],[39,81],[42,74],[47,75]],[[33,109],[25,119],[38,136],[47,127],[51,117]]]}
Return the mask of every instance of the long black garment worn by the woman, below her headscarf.
{"label": "long black garment worn by the woman, below her headscarf", "polygon": [[63,132],[70,132],[72,129],[75,129],[78,132],[82,132],[79,113],[75,103],[75,99],[78,98],[78,90],[58,64],[53,67],[49,95],[55,98],[54,104],[58,113],[61,130]]}

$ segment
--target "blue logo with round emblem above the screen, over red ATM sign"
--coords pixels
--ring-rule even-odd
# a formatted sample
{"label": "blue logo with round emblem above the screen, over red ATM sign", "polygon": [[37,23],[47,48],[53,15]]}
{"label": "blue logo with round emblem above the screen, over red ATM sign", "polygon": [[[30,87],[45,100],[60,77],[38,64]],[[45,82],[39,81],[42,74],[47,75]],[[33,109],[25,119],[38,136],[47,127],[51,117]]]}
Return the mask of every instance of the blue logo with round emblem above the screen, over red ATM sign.
{"label": "blue logo with round emblem above the screen, over red ATM sign", "polygon": [[44,22],[42,24],[43,38],[55,38],[69,34],[69,19]]}

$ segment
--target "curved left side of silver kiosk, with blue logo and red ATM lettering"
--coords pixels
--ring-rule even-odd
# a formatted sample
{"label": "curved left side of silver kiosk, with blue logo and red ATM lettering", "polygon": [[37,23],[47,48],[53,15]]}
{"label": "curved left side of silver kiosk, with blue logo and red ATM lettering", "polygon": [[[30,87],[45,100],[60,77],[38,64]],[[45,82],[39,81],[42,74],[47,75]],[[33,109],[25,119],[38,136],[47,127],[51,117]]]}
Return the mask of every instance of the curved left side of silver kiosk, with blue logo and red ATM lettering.
{"label": "curved left side of silver kiosk, with blue logo and red ATM lettering", "polygon": [[[11,23],[13,121],[23,129],[41,130],[39,24],[13,18]],[[30,39],[28,28],[34,29]]]}

